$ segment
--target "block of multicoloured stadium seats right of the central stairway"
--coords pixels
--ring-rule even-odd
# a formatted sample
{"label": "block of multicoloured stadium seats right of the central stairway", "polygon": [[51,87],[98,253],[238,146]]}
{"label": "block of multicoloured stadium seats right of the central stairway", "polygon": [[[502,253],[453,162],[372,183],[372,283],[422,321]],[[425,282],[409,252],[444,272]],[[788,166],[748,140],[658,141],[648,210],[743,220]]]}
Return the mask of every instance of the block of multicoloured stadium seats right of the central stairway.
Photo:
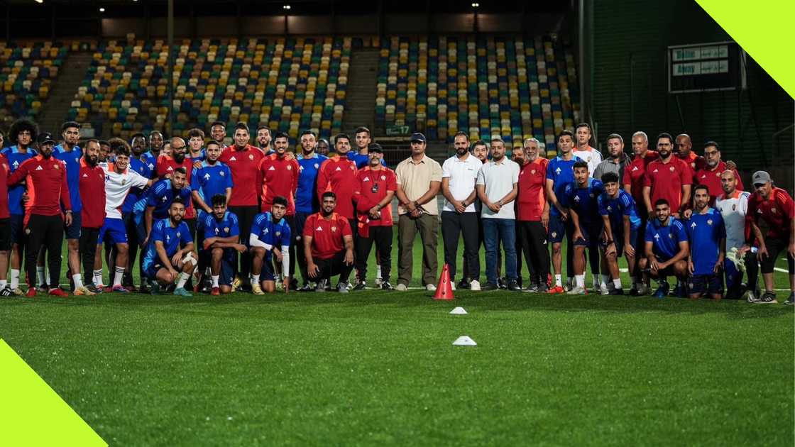
{"label": "block of multicoloured stadium seats right of the central stairway", "polygon": [[425,130],[452,142],[531,136],[555,151],[577,108],[574,58],[549,37],[391,37],[381,42],[376,125]]}

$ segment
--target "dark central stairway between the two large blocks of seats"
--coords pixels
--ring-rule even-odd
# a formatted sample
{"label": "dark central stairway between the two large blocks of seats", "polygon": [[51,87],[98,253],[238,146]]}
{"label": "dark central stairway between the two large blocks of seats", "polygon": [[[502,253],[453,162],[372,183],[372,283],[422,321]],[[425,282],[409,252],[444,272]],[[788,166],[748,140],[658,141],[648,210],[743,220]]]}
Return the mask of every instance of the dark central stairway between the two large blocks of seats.
{"label": "dark central stairway between the two large blocks of seats", "polygon": [[351,138],[354,136],[353,131],[359,126],[366,126],[373,134],[378,134],[373,129],[378,57],[378,49],[373,48],[354,49],[351,52],[347,99],[343,113],[343,132],[350,133]]}

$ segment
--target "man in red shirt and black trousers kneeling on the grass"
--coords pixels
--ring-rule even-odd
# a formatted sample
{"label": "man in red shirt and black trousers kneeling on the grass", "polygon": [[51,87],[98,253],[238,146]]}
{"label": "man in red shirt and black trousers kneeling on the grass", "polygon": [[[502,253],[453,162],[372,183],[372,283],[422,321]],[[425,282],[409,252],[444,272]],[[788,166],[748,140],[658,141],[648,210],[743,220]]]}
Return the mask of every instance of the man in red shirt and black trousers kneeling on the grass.
{"label": "man in red shirt and black trousers kneeling on the grass", "polygon": [[318,280],[315,290],[322,292],[332,276],[339,274],[337,291],[347,293],[353,270],[353,233],[348,220],[334,212],[336,204],[334,192],[323,193],[320,212],[304,224],[304,254],[309,277]]}

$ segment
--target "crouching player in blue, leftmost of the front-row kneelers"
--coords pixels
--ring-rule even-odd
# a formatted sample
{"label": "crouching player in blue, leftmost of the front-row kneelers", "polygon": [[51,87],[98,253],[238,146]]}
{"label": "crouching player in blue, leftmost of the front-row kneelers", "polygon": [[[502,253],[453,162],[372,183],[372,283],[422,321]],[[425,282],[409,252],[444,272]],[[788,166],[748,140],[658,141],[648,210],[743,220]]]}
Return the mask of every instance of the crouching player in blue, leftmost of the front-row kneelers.
{"label": "crouching player in blue, leftmost of the front-row kneelers", "polygon": [[175,197],[169,207],[169,218],[158,220],[152,227],[144,255],[144,274],[149,279],[152,294],[176,282],[175,295],[193,296],[185,290],[185,283],[196,269],[196,260],[191,231],[182,220],[184,215],[185,205],[180,197]]}

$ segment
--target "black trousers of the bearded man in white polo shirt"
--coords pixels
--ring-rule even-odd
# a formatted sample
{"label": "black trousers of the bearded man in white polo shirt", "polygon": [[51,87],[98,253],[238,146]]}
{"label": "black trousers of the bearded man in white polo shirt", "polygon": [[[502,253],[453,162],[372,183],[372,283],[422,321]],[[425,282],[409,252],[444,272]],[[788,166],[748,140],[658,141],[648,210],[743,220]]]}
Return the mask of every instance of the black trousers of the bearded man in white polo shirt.
{"label": "black trousers of the bearded man in white polo shirt", "polygon": [[478,227],[478,215],[475,212],[461,214],[452,211],[442,212],[442,239],[444,239],[444,262],[450,269],[450,280],[456,278],[456,261],[458,258],[458,239],[463,237],[463,271],[464,276],[477,280],[480,278],[480,247],[479,234],[483,230]]}

